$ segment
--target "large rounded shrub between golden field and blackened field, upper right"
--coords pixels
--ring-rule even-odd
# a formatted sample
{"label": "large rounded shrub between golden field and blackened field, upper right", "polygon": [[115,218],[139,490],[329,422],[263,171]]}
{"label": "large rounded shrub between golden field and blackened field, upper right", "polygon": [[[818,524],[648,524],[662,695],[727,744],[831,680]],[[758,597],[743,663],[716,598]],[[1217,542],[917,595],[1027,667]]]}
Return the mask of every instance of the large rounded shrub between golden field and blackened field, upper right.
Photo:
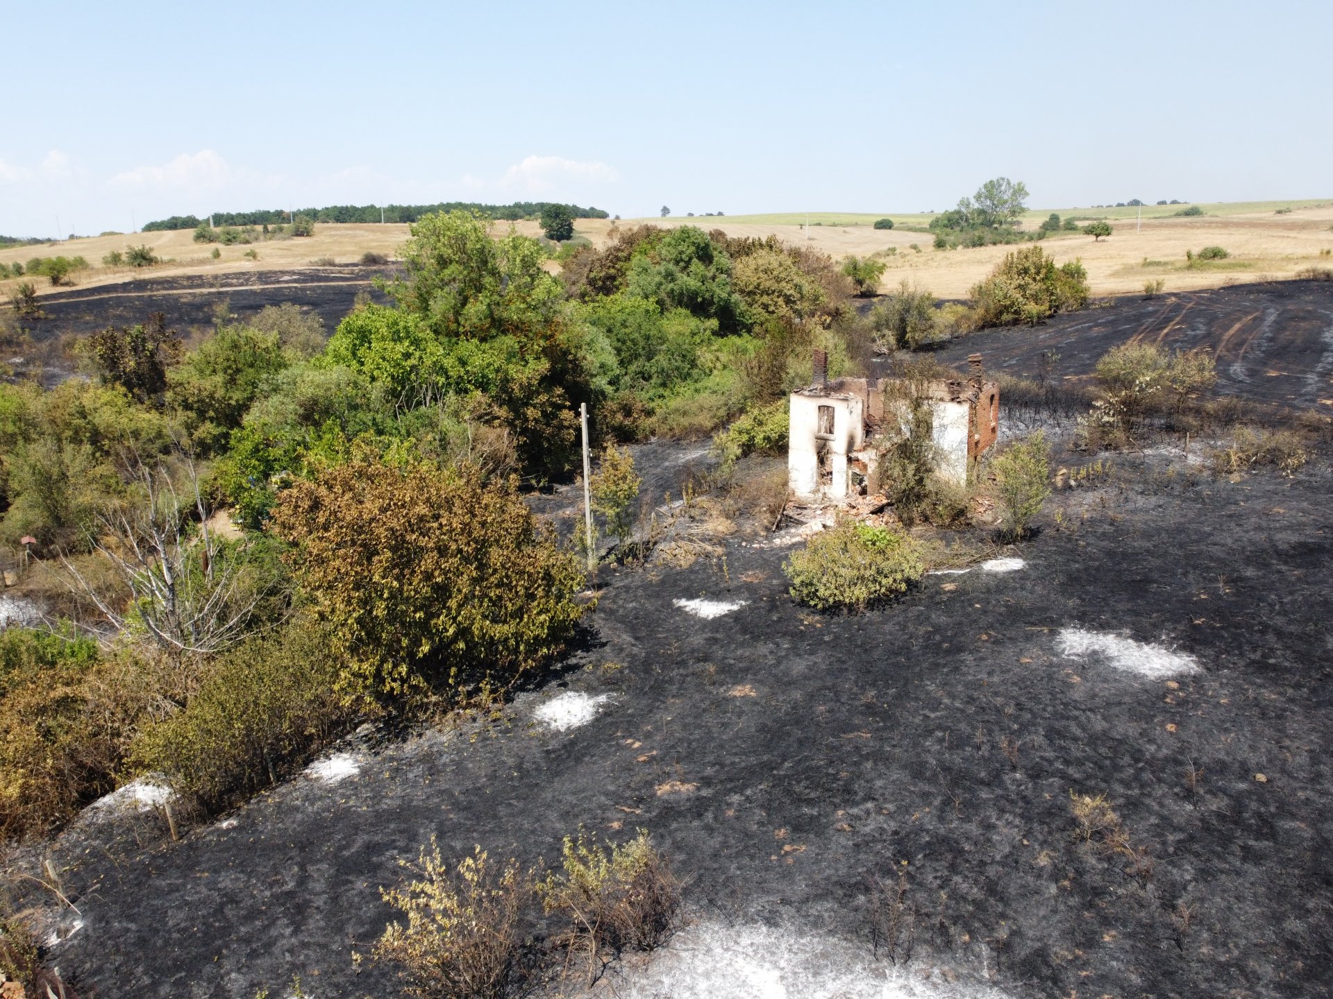
{"label": "large rounded shrub between golden field and blackened field, upper right", "polygon": [[972,288],[972,305],[982,326],[1036,324],[1057,312],[1084,308],[1088,297],[1082,261],[1056,266],[1041,246],[1006,254],[990,277]]}

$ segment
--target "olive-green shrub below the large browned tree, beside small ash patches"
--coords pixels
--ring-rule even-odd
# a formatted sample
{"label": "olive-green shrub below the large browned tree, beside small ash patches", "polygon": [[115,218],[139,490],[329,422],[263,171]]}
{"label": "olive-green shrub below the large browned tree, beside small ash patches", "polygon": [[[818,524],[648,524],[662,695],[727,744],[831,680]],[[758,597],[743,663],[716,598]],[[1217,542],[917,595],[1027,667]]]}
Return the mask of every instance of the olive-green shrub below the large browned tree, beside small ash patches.
{"label": "olive-green shrub below the large browned tree, beside small ash patches", "polygon": [[220,657],[184,710],[151,726],[131,757],[207,809],[225,807],[345,731],[353,713],[335,693],[337,675],[328,637],[297,619]]}

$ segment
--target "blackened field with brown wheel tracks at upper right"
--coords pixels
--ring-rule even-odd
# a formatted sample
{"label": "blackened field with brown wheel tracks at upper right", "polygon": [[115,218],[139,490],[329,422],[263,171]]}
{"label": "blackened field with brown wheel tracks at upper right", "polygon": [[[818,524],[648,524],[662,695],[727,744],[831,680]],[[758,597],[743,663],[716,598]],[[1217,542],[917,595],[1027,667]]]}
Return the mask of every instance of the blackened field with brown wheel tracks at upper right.
{"label": "blackened field with brown wheel tracks at upper right", "polygon": [[1058,358],[1056,377],[1081,378],[1117,344],[1206,346],[1217,361],[1217,390],[1257,402],[1333,413],[1333,282],[1236,285],[1161,298],[1117,298],[1090,312],[1034,328],[982,330],[948,344],[937,357],[964,365],[977,352],[992,370],[1032,377],[1042,352]]}

